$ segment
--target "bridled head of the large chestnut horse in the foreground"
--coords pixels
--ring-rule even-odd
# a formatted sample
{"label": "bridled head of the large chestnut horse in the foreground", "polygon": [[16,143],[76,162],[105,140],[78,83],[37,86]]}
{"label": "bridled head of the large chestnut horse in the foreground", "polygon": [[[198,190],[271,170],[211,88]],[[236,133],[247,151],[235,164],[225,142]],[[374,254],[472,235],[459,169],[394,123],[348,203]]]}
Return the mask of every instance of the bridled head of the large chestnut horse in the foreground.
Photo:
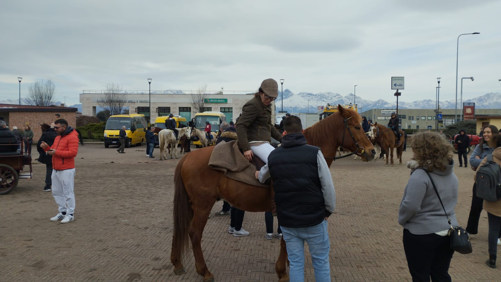
{"label": "bridled head of the large chestnut horse in the foreground", "polygon": [[338,113],[341,115],[344,123],[343,133],[339,134],[339,144],[343,149],[362,157],[365,162],[371,161],[376,155],[376,150],[372,146],[369,138],[362,129],[362,117],[352,109],[346,109],[338,104]]}

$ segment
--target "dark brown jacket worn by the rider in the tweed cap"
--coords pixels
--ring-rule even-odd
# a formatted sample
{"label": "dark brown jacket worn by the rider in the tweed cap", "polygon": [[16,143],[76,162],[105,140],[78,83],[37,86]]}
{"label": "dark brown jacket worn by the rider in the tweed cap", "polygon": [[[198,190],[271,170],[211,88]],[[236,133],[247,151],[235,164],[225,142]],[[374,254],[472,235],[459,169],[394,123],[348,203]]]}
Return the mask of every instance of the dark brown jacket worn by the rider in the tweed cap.
{"label": "dark brown jacket worn by the rider in the tweed cap", "polygon": [[272,124],[272,104],[265,106],[259,95],[248,100],[242,107],[242,114],[236,123],[238,147],[244,152],[250,150],[251,141],[272,142],[282,139],[282,134]]}

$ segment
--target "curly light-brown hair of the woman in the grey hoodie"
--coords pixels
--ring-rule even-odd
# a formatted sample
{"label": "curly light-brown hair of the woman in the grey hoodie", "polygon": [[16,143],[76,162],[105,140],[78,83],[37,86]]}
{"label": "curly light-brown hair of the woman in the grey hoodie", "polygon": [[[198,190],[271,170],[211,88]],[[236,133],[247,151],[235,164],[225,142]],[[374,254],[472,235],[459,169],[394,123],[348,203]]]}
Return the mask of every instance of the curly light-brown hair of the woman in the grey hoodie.
{"label": "curly light-brown hair of the woman in the grey hoodie", "polygon": [[412,151],[419,167],[426,167],[429,172],[434,169],[445,171],[452,161],[452,145],[436,132],[420,132],[412,136]]}

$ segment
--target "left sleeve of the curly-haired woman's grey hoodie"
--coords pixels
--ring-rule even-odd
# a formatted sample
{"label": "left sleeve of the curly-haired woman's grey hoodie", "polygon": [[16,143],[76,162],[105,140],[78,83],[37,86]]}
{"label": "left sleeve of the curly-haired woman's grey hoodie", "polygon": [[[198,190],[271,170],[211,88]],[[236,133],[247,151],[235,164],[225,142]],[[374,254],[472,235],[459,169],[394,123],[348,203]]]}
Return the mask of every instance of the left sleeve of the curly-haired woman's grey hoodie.
{"label": "left sleeve of the curly-haired woman's grey hoodie", "polygon": [[421,210],[426,195],[428,176],[422,170],[412,173],[405,186],[404,196],[398,210],[398,224],[404,225],[412,216]]}

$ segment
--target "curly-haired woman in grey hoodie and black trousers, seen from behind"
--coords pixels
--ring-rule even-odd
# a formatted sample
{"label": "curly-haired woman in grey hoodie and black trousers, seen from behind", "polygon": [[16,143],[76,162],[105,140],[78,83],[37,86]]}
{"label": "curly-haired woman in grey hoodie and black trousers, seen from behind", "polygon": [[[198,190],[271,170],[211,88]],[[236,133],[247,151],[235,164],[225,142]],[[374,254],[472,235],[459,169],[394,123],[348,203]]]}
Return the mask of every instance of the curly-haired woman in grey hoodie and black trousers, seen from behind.
{"label": "curly-haired woman in grey hoodie and black trousers, seen from behind", "polygon": [[398,211],[404,227],[403,245],[414,281],[450,281],[448,273],[454,250],[447,236],[450,225],[433,189],[428,171],[452,226],[458,226],[454,207],[459,182],[453,172],[452,146],[436,132],[421,132],[412,138],[414,156],[407,163],[409,182]]}

